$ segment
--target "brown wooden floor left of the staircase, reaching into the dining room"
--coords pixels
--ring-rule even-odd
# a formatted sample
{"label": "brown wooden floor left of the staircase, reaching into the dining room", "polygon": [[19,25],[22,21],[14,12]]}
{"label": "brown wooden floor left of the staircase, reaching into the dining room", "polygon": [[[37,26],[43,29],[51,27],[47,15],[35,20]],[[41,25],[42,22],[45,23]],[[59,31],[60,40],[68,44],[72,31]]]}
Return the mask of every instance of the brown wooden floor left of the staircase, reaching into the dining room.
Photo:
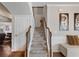
{"label": "brown wooden floor left of the staircase, reaching into the dining room", "polygon": [[11,52],[9,45],[0,45],[0,57],[24,57],[24,51]]}

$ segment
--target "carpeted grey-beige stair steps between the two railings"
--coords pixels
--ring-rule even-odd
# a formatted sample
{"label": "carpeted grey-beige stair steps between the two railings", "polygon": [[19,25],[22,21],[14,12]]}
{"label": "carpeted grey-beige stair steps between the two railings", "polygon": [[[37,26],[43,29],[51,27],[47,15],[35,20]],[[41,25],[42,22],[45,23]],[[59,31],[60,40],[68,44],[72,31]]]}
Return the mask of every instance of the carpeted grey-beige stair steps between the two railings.
{"label": "carpeted grey-beige stair steps between the two railings", "polygon": [[47,42],[41,28],[36,28],[31,45],[30,57],[47,57]]}

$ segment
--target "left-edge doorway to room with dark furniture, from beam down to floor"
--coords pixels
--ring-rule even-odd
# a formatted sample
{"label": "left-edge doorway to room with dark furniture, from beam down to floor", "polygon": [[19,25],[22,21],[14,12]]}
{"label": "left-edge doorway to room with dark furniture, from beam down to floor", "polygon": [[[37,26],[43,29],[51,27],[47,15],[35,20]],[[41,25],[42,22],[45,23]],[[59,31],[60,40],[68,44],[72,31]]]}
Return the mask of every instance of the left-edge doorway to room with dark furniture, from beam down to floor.
{"label": "left-edge doorway to room with dark furniture, from beam down to floor", "polygon": [[11,40],[12,20],[0,15],[0,56],[7,56],[10,54]]}

